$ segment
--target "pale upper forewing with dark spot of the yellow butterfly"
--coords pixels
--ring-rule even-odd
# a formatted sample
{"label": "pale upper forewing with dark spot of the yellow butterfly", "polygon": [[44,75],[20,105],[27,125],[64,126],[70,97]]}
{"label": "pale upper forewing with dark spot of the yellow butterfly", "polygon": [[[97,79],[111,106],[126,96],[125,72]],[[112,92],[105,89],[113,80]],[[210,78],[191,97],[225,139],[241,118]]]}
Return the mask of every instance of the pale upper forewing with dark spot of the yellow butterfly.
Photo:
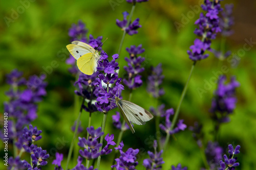
{"label": "pale upper forewing with dark spot of the yellow butterfly", "polygon": [[88,45],[87,43],[81,42],[81,41],[73,41],[72,44],[68,44],[67,48],[71,55],[78,60],[80,57],[82,57],[84,54],[87,53],[95,53],[96,51],[91,45]]}

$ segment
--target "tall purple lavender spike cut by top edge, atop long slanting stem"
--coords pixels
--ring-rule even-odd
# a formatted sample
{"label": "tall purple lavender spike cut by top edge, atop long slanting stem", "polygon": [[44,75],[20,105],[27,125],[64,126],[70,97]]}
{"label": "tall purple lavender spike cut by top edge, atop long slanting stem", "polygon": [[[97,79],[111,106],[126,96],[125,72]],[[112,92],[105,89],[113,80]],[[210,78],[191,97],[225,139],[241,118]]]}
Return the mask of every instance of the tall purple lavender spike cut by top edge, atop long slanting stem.
{"label": "tall purple lavender spike cut by top edge, atop long slanting stem", "polygon": [[194,45],[190,46],[191,51],[187,51],[189,58],[193,61],[198,61],[207,58],[209,55],[205,54],[205,51],[211,51],[210,39],[216,38],[216,33],[221,32],[219,25],[219,12],[222,11],[220,1],[205,0],[201,6],[206,14],[200,14],[200,18],[196,20],[195,24],[198,26],[194,33],[202,40],[196,39]]}

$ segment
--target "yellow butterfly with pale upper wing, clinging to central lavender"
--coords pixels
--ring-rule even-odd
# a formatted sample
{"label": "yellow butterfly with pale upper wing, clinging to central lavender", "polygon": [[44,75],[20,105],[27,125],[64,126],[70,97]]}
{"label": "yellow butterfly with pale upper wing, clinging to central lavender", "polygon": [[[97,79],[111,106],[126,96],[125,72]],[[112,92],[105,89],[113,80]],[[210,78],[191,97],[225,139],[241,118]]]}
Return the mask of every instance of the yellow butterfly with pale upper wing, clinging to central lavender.
{"label": "yellow butterfly with pale upper wing, clinging to central lavender", "polygon": [[97,62],[100,58],[98,50],[81,41],[73,41],[72,44],[67,45],[67,48],[77,60],[77,66],[81,72],[92,75],[96,71]]}

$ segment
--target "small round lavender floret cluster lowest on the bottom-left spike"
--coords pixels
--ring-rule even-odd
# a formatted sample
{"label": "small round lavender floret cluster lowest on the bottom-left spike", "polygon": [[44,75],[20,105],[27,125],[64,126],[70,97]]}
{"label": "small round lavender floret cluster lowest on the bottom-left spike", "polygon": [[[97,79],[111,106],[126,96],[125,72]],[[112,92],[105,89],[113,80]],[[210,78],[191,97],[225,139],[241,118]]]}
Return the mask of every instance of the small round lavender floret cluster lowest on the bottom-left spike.
{"label": "small round lavender floret cluster lowest on the bottom-left spike", "polygon": [[31,155],[32,158],[32,163],[34,165],[40,165],[40,166],[45,166],[47,165],[46,159],[49,158],[49,154],[47,154],[46,150],[42,150],[41,147],[38,147],[33,150],[34,154]]}

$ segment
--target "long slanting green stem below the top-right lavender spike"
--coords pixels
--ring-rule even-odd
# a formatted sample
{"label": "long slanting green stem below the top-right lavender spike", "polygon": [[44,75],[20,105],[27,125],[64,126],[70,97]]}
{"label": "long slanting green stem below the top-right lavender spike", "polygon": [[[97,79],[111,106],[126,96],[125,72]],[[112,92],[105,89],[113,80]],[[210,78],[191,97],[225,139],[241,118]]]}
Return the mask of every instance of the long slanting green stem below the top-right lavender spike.
{"label": "long slanting green stem below the top-right lavender spike", "polygon": [[[190,72],[189,72],[189,76],[188,76],[188,79],[187,79],[187,82],[185,84],[185,87],[183,88],[183,91],[181,93],[181,96],[180,96],[180,100],[179,100],[179,103],[178,103],[178,106],[177,106],[177,109],[175,111],[175,114],[174,114],[174,118],[173,118],[173,121],[172,121],[172,126],[170,127],[170,131],[172,131],[174,129],[174,126],[177,122],[177,119],[178,119],[178,116],[179,116],[179,112],[180,112],[180,107],[181,107],[181,104],[182,104],[182,101],[184,99],[184,96],[186,94],[186,91],[187,91],[187,87],[188,87],[188,83],[189,83],[189,80],[191,78],[191,75],[193,73],[193,70],[195,68],[195,65],[196,65],[197,61],[194,61],[193,65],[191,66],[191,69],[190,69]],[[163,152],[166,150],[166,147],[167,147],[167,143],[168,143],[168,140],[169,140],[169,135],[167,133],[167,136],[166,136],[166,139],[165,139],[165,142],[164,142],[164,147],[163,147]]]}

